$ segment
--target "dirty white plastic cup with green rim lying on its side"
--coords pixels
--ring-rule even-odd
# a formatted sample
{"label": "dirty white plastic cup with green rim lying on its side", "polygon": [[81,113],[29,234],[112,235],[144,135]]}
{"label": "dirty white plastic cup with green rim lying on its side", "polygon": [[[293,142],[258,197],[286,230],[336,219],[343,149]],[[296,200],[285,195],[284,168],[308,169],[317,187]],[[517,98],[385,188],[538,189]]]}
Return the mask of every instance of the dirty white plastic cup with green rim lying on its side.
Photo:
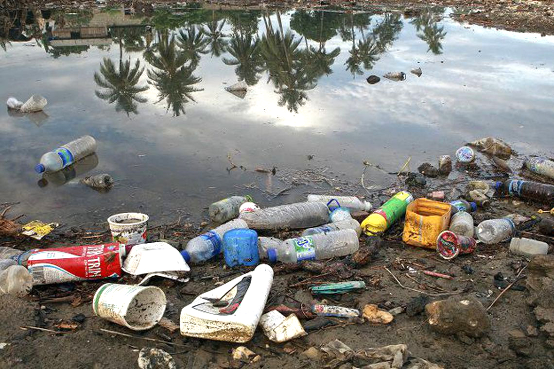
{"label": "dirty white plastic cup with green rim lying on its side", "polygon": [[161,288],[106,283],[94,294],[93,311],[100,318],[141,331],[162,319],[166,303]]}

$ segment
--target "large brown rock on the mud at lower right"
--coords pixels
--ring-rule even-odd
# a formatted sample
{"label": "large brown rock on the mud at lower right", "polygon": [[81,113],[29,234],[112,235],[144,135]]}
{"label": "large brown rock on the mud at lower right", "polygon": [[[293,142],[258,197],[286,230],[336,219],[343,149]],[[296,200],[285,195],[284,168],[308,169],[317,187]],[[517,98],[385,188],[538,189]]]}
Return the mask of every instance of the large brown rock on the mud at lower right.
{"label": "large brown rock on the mud at lower right", "polygon": [[490,328],[490,318],[483,304],[474,297],[435,301],[425,306],[425,313],[430,328],[441,334],[460,332],[481,337]]}

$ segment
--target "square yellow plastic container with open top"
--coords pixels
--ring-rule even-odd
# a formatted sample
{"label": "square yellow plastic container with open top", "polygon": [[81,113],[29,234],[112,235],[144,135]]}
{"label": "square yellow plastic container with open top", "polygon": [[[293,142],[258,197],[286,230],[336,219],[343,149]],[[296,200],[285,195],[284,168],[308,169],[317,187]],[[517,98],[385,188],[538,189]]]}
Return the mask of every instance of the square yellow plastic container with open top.
{"label": "square yellow plastic container with open top", "polygon": [[408,245],[437,248],[439,233],[447,230],[452,208],[446,202],[416,199],[406,209],[402,241]]}

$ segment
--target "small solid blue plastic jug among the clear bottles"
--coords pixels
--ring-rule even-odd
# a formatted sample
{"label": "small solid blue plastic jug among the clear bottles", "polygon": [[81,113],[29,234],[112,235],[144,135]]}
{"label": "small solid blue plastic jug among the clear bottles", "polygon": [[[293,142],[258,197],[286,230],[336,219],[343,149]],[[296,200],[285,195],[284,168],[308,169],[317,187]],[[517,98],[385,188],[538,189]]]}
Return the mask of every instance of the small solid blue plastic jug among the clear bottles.
{"label": "small solid blue plastic jug among the clear bottles", "polygon": [[260,262],[258,254],[258,233],[254,230],[238,229],[223,235],[223,255],[229,267],[255,266]]}

